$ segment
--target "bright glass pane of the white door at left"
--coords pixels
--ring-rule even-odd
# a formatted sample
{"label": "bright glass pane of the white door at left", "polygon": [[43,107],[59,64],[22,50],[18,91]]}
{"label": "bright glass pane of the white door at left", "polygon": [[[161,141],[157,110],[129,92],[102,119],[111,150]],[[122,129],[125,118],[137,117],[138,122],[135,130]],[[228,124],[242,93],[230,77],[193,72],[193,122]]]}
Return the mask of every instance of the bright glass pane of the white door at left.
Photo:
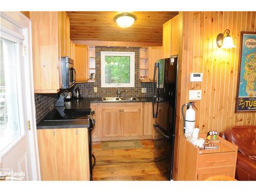
{"label": "bright glass pane of the white door at left", "polygon": [[0,40],[0,151],[21,135],[17,93],[17,49],[12,41]]}

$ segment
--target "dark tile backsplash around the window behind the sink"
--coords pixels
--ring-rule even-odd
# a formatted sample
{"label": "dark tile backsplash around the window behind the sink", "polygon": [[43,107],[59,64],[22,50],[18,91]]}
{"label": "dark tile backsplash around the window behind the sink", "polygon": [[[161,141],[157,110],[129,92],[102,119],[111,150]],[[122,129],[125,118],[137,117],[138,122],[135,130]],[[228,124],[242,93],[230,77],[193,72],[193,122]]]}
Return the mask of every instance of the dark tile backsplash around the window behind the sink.
{"label": "dark tile backsplash around the window behind the sink", "polygon": [[[82,97],[113,97],[117,95],[117,88],[101,88],[101,63],[100,63],[100,52],[101,51],[125,51],[135,52],[135,87],[134,88],[119,88],[120,90],[127,90],[128,93],[122,93],[123,97],[150,97],[152,95],[153,83],[151,82],[140,82],[139,81],[139,48],[135,47],[100,47],[96,46],[96,82],[90,83],[76,83],[74,86],[80,89]],[[94,87],[97,87],[97,93],[94,93]],[[146,93],[141,93],[141,88],[146,88]]]}

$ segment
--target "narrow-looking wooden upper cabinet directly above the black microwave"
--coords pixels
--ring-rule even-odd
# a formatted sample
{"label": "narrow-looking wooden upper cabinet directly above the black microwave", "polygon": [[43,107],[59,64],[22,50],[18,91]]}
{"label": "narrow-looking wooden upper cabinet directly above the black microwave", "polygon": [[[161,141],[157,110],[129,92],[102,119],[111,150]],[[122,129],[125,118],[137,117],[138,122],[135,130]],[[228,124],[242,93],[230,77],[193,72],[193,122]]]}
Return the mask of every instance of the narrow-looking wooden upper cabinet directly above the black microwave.
{"label": "narrow-looking wooden upper cabinet directly above the black microwave", "polygon": [[70,21],[66,12],[61,14],[61,57],[71,57],[70,54]]}

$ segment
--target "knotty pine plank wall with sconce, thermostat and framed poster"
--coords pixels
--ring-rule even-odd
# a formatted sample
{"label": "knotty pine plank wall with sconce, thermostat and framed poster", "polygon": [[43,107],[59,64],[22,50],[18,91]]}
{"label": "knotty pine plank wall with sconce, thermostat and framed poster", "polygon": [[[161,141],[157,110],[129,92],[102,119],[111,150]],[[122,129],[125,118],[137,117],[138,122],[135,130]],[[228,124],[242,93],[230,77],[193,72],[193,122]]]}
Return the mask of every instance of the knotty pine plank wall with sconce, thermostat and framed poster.
{"label": "knotty pine plank wall with sconce, thermostat and framed poster", "polygon": [[[202,90],[196,101],[196,127],[200,134],[222,132],[235,125],[255,125],[255,113],[235,114],[241,31],[256,31],[256,12],[180,12],[182,42],[179,48],[179,75],[174,179],[177,172],[178,137],[183,134],[182,104],[188,102],[188,90]],[[216,37],[230,30],[236,48],[219,49]],[[203,82],[190,82],[192,72],[203,73]],[[180,83],[180,84],[179,84]]]}

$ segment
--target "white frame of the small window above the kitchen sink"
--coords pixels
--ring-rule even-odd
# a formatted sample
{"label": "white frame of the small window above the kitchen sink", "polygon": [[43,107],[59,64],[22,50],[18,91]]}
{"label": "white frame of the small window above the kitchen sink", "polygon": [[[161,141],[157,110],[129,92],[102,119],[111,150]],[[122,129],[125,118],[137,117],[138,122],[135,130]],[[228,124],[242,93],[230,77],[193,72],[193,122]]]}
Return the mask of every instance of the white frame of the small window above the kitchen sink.
{"label": "white frame of the small window above the kitchen sink", "polygon": [[[105,82],[105,56],[129,56],[130,57],[130,83],[106,83]],[[135,82],[135,52],[101,51],[101,87],[102,88],[134,88]]]}

